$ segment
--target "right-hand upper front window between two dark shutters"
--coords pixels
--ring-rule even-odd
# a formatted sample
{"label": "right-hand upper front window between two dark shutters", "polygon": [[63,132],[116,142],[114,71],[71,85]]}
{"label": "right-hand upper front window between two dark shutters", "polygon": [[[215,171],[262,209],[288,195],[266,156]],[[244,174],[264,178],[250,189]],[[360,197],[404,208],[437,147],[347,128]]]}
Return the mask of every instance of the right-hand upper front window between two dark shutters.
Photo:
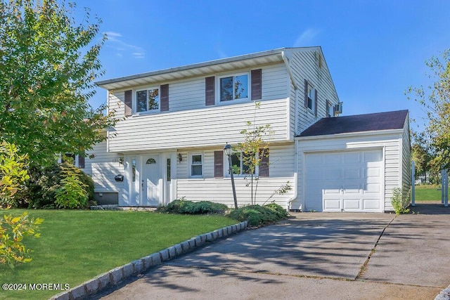
{"label": "right-hand upper front window between two dark shutters", "polygon": [[248,74],[219,77],[220,102],[248,98]]}

